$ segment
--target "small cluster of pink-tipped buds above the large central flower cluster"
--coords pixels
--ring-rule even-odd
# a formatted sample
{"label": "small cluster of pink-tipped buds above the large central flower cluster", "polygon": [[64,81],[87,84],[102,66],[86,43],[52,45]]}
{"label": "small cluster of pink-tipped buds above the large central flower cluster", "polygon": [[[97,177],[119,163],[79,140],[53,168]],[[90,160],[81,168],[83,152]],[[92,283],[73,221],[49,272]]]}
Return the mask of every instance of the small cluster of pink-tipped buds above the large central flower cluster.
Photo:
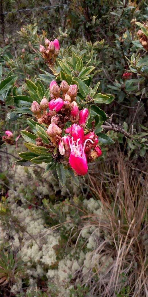
{"label": "small cluster of pink-tipped buds above the large central flower cluster", "polygon": [[49,63],[49,66],[52,67],[55,63],[56,57],[59,54],[59,41],[57,39],[50,41],[46,38],[45,47],[40,45],[40,53],[42,54],[42,57]]}

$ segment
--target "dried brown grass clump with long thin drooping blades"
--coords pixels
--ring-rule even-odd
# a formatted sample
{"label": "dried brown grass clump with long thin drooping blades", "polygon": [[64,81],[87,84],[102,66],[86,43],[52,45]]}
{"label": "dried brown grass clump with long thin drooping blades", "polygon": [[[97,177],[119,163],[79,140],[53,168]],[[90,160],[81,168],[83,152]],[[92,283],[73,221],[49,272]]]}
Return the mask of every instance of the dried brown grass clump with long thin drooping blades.
{"label": "dried brown grass clump with long thin drooping blades", "polygon": [[[89,222],[99,226],[95,253],[100,258],[105,255],[113,260],[104,273],[105,263],[95,273],[91,272],[88,283],[92,296],[147,297],[147,166],[144,168],[144,163],[143,170],[135,168],[136,160],[133,164],[115,151],[110,157],[104,168],[99,167],[99,175],[93,171],[89,175],[91,191],[103,205],[102,216],[96,219],[92,214]],[[108,235],[101,241],[99,238],[104,232]],[[96,275],[97,282],[94,281]],[[120,295],[123,287],[128,288],[127,295]]]}

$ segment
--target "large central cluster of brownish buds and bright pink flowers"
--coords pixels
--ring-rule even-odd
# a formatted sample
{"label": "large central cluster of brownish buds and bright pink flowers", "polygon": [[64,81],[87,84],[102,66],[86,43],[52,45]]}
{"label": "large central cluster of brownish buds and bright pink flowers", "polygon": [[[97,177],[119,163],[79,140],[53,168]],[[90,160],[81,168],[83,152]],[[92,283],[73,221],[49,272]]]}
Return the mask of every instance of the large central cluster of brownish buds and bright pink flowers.
{"label": "large central cluster of brownish buds and bright pink flowers", "polygon": [[[102,155],[94,129],[85,129],[89,110],[87,108],[79,110],[76,102],[78,91],[76,85],[69,86],[63,80],[58,86],[57,82],[52,80],[49,88],[51,101],[48,102],[45,97],[40,105],[34,101],[31,110],[38,122],[46,125],[46,132],[51,142],[45,145],[41,138],[37,138],[36,144],[53,150],[57,147],[58,160],[64,164],[69,163],[78,175],[85,175],[88,171],[88,162]],[[69,121],[71,126],[64,131],[65,124]],[[66,135],[62,137],[63,132]]]}

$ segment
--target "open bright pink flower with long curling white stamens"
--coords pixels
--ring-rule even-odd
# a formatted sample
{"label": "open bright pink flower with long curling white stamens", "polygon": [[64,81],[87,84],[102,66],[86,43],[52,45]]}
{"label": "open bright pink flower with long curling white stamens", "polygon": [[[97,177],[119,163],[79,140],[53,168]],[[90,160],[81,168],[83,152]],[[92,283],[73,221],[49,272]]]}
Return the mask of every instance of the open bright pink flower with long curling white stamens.
{"label": "open bright pink flower with long curling white stamens", "polygon": [[78,138],[77,141],[75,141],[72,137],[71,140],[71,143],[69,141],[69,146],[71,150],[69,163],[77,174],[85,175],[88,172],[87,159],[85,154],[85,146],[88,140],[85,140],[84,145],[82,145],[82,143],[80,142],[80,138]]}

